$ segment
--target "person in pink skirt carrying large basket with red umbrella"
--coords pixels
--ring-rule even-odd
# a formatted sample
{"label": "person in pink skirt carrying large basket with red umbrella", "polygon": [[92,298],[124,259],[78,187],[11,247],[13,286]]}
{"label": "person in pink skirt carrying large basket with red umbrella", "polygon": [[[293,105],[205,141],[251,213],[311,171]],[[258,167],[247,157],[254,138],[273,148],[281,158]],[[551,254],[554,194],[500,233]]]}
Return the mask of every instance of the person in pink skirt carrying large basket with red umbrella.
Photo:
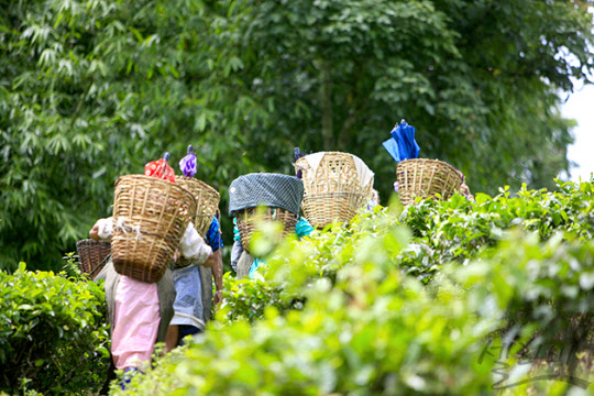
{"label": "person in pink skirt carrying large basket with red umbrella", "polygon": [[[131,373],[150,366],[154,343],[164,341],[173,317],[175,289],[173,255],[179,246],[190,254],[187,229],[196,199],[175,184],[168,154],[145,165],[144,175],[121,176],[116,183],[113,216],[96,223],[91,238],[111,240],[111,260],[98,278],[105,278],[111,323],[111,354],[116,369]],[[188,253],[190,252],[190,253]]]}

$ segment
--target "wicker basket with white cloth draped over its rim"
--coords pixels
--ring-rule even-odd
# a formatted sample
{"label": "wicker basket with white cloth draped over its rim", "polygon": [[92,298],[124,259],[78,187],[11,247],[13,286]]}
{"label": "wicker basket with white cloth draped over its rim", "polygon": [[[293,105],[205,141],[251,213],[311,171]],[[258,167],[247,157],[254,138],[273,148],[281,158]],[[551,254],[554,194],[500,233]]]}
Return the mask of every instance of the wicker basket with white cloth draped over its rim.
{"label": "wicker basket with white cloth draped over its rim", "polygon": [[373,172],[352,154],[309,154],[297,160],[295,167],[302,175],[305,217],[317,228],[337,220],[349,222],[373,188]]}

